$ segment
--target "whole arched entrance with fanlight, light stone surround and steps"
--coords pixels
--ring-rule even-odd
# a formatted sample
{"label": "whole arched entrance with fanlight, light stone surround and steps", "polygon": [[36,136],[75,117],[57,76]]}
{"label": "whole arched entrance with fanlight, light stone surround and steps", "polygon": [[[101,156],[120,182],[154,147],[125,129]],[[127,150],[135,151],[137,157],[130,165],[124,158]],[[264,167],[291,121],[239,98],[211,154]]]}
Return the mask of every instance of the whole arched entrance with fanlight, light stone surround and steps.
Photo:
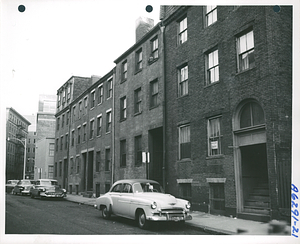
{"label": "whole arched entrance with fanlight, light stone surround and steps", "polygon": [[[264,111],[254,99],[240,103],[233,117],[237,214],[259,220],[270,215]],[[252,217],[251,217],[252,216]]]}

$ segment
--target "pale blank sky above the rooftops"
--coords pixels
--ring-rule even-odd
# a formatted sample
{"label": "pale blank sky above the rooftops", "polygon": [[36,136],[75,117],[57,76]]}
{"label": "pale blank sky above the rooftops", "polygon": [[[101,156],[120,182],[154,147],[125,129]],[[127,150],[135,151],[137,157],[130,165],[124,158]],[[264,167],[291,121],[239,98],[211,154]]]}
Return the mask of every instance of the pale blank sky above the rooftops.
{"label": "pale blank sky above the rooftops", "polygon": [[159,4],[151,0],[1,0],[1,5],[1,100],[21,115],[36,113],[39,94],[56,95],[73,75],[107,74],[135,43],[140,16],[159,22]]}

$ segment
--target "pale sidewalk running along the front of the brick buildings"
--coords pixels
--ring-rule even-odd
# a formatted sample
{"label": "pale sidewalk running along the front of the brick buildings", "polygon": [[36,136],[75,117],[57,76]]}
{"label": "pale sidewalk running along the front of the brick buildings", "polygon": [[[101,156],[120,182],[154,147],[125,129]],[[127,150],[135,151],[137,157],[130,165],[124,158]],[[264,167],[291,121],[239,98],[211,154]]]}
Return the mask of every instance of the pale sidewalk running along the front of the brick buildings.
{"label": "pale sidewalk running along the front of the brick buildings", "polygon": [[[81,195],[68,194],[67,201],[94,206],[96,198],[83,197]],[[217,235],[268,235],[270,225],[268,223],[251,220],[217,216],[208,213],[192,211],[192,220],[186,221],[186,225],[199,228],[210,234]],[[290,226],[286,226],[286,235],[290,235]],[[277,234],[278,235],[278,234]]]}

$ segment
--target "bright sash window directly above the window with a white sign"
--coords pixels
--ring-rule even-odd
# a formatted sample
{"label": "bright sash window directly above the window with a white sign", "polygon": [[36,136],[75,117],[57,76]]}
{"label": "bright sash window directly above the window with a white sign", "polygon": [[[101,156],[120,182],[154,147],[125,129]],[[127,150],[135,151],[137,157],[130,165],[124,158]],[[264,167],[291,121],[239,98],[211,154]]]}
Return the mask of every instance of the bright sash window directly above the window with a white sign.
{"label": "bright sash window directly above the window with a white sign", "polygon": [[219,55],[214,50],[206,55],[206,85],[219,81]]}

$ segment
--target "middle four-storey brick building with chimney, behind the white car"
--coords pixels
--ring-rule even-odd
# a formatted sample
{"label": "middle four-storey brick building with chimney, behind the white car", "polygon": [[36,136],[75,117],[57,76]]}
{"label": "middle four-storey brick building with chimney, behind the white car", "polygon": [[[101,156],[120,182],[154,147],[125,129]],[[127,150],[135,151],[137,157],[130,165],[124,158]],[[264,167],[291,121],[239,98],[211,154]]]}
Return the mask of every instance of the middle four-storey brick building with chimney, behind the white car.
{"label": "middle four-storey brick building with chimney, behind the white car", "polygon": [[[159,24],[139,18],[136,43],[115,60],[115,179],[163,183],[163,44]],[[142,153],[150,154],[150,164]]]}

